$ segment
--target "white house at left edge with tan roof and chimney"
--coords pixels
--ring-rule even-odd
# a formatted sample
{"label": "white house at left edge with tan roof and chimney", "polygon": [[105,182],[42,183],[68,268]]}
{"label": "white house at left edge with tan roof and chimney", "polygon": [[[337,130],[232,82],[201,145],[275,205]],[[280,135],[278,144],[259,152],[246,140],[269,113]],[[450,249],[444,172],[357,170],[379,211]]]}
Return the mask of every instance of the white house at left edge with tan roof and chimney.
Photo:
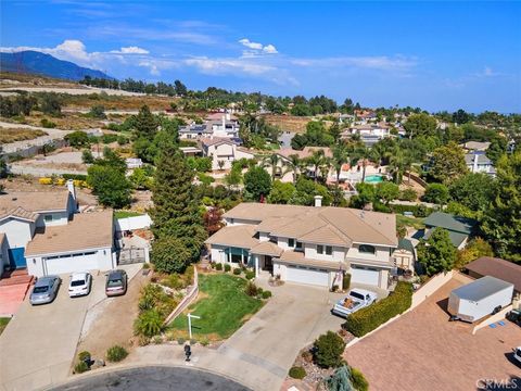
{"label": "white house at left edge with tan roof and chimney", "polygon": [[113,212],[77,212],[72,181],[58,191],[0,195],[2,270],[41,277],[115,267]]}

